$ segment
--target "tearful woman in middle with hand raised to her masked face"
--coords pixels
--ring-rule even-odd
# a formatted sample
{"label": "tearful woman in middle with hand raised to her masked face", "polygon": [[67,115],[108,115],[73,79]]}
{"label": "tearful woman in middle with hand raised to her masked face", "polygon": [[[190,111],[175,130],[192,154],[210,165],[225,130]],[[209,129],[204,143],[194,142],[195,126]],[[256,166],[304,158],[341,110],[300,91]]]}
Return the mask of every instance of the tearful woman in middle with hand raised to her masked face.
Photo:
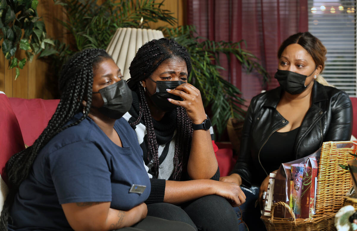
{"label": "tearful woman in middle with hand raised to her masked face", "polygon": [[238,184],[218,181],[213,129],[200,91],[187,83],[186,48],[152,40],[139,48],[129,70],[133,102],[124,118],[137,134],[151,178],[148,215],[198,230],[237,230],[232,205],[242,204],[245,195]]}

